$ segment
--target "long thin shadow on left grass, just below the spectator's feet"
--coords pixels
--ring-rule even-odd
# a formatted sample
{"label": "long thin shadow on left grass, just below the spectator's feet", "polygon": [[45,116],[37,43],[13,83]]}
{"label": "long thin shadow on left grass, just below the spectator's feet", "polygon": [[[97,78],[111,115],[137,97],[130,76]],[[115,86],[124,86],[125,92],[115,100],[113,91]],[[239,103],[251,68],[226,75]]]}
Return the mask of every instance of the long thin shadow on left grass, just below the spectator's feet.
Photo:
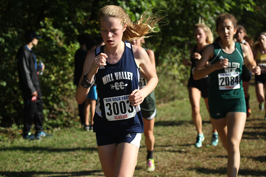
{"label": "long thin shadow on left grass, just below the spectator's feet", "polygon": [[25,151],[25,152],[33,152],[33,151],[48,151],[48,152],[72,152],[72,151],[98,151],[97,148],[46,148],[46,147],[23,147],[23,146],[17,146],[12,148],[0,148],[0,151]]}

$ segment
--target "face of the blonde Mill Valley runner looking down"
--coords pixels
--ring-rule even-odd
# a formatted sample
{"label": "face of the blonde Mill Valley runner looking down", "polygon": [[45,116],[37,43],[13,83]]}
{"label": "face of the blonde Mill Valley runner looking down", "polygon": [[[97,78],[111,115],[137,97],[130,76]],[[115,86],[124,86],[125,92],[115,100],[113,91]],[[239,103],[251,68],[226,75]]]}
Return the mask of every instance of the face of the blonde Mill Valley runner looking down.
{"label": "face of the blonde Mill Valley runner looking down", "polygon": [[122,41],[126,25],[123,27],[118,18],[101,17],[100,23],[101,34],[106,45],[113,47]]}

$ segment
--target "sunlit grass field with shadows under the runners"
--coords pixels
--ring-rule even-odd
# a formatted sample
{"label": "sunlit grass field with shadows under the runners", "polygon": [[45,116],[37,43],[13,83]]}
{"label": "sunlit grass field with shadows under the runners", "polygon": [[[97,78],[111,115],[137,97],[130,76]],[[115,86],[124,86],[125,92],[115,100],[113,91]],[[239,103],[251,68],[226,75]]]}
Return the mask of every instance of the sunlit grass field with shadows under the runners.
{"label": "sunlit grass field with shadows under the runners", "polygon": [[[253,81],[254,82],[254,81]],[[186,89],[184,88],[184,91]],[[240,144],[239,176],[266,176],[266,121],[258,109],[254,84],[250,87],[252,114],[247,118]],[[189,99],[158,104],[155,120],[155,171],[146,171],[146,147],[142,135],[135,177],[213,177],[226,175],[227,153],[219,142],[210,145],[211,124],[203,99],[202,126],[205,141],[195,148],[197,132],[191,118]],[[53,130],[43,140],[0,142],[0,176],[8,177],[100,177],[95,134],[81,127]]]}

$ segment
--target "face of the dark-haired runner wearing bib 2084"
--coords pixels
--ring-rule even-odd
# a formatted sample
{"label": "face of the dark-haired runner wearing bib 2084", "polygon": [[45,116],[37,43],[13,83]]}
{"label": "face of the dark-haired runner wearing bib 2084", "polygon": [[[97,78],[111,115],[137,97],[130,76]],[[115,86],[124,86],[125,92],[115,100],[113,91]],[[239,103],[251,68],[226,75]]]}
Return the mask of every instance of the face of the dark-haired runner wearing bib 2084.
{"label": "face of the dark-haired runner wearing bib 2084", "polygon": [[233,41],[236,29],[230,19],[225,19],[218,24],[218,30],[216,32],[221,37],[222,41],[229,42]]}

